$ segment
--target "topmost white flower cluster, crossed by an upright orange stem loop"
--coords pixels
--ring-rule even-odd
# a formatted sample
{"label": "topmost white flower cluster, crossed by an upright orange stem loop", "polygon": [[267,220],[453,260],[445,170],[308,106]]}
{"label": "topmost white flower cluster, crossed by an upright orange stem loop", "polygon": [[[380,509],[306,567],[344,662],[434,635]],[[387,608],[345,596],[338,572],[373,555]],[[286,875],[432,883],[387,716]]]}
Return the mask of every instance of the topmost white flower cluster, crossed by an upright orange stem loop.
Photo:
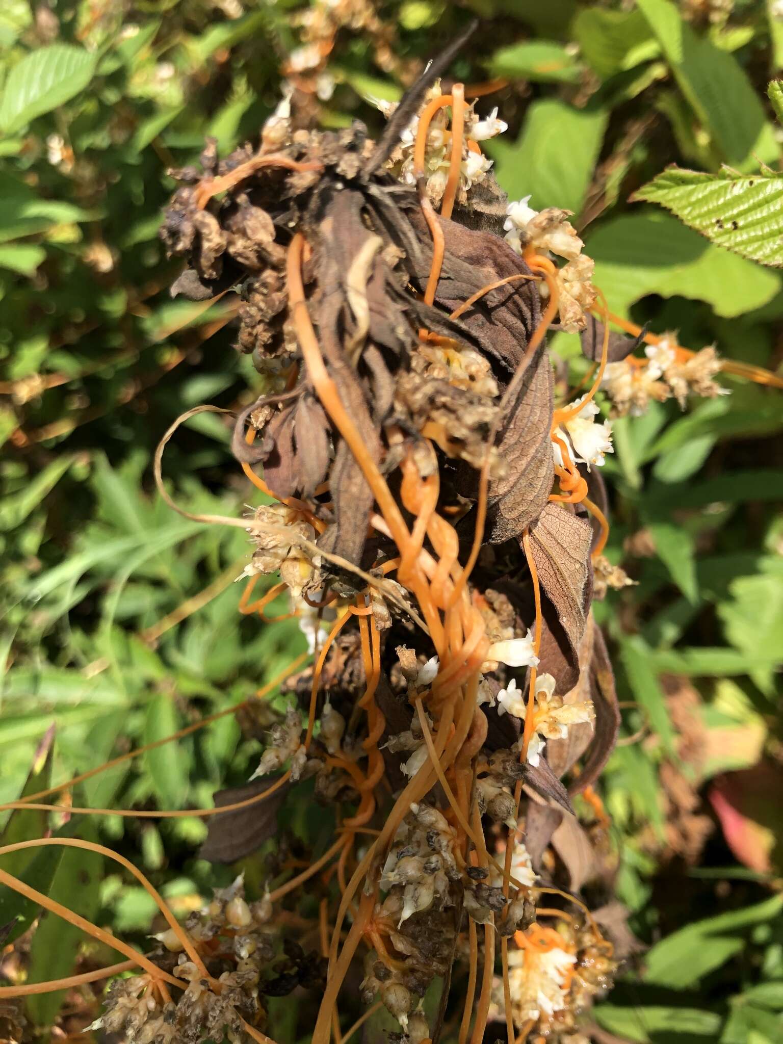
{"label": "topmost white flower cluster, crossed by an upright orange stem loop", "polygon": [[[422,108],[433,98],[440,97],[441,93],[441,81],[438,80],[430,88]],[[397,108],[395,103],[385,102],[377,98],[371,100],[386,118]],[[427,177],[427,195],[433,206],[437,206],[443,199],[444,192],[446,191],[446,183],[449,177],[451,134],[447,129],[447,123],[448,115],[444,106],[434,114],[427,130],[424,169]],[[481,152],[478,142],[495,138],[505,129],[507,129],[507,124],[498,119],[497,108],[493,109],[490,115],[483,119],[476,115],[473,105],[466,109],[462,156],[459,166],[459,186],[457,188],[457,200],[459,203],[464,204],[466,201],[471,188],[482,182],[487,176],[487,172],[492,167],[492,160],[488,160]],[[414,116],[402,132],[400,144],[393,152],[387,164],[388,169],[405,185],[416,184],[413,151],[418,133],[419,116]]]}

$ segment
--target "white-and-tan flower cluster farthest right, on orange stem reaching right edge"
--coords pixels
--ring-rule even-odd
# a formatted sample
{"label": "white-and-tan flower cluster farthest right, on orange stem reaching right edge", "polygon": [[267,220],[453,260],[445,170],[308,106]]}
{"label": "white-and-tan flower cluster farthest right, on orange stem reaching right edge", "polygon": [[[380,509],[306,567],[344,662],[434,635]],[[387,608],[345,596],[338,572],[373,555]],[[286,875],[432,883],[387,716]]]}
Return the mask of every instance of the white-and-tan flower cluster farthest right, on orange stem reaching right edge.
{"label": "white-and-tan flower cluster farthest right, on orange stem reaching right edge", "polygon": [[665,402],[674,398],[685,408],[689,395],[706,399],[729,395],[729,389],[714,380],[720,359],[712,346],[689,353],[669,335],[648,345],[644,353],[646,362],[635,358],[610,362],[603,373],[602,386],[620,417],[640,417],[650,399]]}

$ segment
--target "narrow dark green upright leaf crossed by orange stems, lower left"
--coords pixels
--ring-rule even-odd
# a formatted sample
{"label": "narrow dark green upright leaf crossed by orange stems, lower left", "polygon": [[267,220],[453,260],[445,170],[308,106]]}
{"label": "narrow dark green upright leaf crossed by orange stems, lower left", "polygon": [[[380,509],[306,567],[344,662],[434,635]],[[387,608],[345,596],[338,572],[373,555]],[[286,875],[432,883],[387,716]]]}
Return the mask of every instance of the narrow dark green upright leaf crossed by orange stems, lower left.
{"label": "narrow dark green upright leaf crossed by orange stems, lower left", "polygon": [[[80,824],[85,840],[97,840],[94,823]],[[97,852],[63,849],[63,858],[49,889],[49,897],[91,921],[100,904],[103,856]],[[85,933],[56,914],[46,911],[30,945],[28,982],[65,978],[73,971]],[[65,990],[27,998],[27,1011],[39,1026],[51,1026],[66,996]]]}

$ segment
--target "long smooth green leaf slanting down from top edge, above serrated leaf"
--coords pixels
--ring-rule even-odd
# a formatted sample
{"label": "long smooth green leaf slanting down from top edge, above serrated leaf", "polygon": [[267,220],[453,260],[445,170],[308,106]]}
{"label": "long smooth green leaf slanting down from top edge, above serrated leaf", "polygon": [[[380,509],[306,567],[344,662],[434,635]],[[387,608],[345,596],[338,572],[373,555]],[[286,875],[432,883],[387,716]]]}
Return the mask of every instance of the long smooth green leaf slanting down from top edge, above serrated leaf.
{"label": "long smooth green leaf slanting down from top edge, above serrated leaf", "polygon": [[669,0],[638,0],[664,55],[720,159],[750,169],[778,152],[764,110],[733,54],[698,37]]}

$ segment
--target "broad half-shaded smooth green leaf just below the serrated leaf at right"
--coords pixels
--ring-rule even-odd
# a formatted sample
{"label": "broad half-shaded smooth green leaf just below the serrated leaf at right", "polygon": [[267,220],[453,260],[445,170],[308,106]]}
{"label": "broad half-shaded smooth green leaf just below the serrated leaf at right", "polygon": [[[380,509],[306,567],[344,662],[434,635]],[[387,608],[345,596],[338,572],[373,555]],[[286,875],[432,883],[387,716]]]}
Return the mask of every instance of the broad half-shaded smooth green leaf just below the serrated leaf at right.
{"label": "broad half-shaded smooth green leaf just below the serrated leaf at right", "polygon": [[658,293],[706,301],[716,314],[732,317],[760,308],[780,290],[776,272],[721,251],[668,214],[607,221],[587,237],[587,253],[614,312]]}

